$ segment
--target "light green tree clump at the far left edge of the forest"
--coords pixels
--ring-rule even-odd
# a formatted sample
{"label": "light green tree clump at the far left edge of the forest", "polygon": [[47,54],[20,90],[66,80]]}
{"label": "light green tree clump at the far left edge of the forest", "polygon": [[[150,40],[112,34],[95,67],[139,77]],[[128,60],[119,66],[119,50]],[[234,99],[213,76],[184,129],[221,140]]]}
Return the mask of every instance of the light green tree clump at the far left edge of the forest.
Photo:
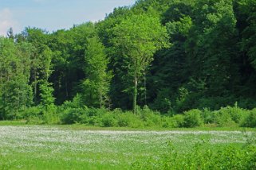
{"label": "light green tree clump at the far left edge of the forest", "polygon": [[0,119],[17,118],[18,110],[32,103],[31,50],[30,44],[0,37]]}

